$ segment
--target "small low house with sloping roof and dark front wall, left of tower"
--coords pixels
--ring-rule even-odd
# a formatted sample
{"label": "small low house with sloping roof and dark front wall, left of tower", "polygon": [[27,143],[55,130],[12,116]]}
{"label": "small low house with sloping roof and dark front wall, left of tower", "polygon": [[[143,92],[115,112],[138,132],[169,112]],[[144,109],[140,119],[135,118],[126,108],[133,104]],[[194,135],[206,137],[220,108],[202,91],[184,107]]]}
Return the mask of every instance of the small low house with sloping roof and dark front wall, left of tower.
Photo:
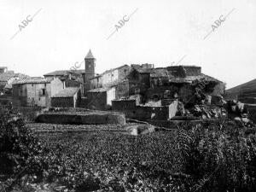
{"label": "small low house with sloping roof and dark front wall, left of tower", "polygon": [[51,107],[54,108],[78,108],[81,102],[81,90],[79,87],[67,87],[51,96]]}

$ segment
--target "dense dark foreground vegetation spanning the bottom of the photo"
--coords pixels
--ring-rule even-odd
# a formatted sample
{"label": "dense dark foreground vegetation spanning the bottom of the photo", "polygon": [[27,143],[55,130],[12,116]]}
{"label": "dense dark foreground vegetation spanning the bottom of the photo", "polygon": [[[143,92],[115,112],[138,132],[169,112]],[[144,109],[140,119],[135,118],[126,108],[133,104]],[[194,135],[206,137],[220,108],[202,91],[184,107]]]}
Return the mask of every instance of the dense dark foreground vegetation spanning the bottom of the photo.
{"label": "dense dark foreground vegetation spanning the bottom of the photo", "polygon": [[2,184],[9,190],[256,191],[255,131],[227,119],[139,137],[35,137],[12,116],[1,114]]}

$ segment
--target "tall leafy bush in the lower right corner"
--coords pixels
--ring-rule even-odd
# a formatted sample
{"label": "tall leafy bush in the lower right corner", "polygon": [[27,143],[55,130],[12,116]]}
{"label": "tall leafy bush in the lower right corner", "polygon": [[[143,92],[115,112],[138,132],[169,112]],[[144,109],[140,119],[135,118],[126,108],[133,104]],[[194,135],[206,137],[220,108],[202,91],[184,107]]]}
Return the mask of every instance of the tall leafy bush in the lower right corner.
{"label": "tall leafy bush in the lower right corner", "polygon": [[181,127],[177,141],[188,191],[256,191],[256,137],[228,121]]}

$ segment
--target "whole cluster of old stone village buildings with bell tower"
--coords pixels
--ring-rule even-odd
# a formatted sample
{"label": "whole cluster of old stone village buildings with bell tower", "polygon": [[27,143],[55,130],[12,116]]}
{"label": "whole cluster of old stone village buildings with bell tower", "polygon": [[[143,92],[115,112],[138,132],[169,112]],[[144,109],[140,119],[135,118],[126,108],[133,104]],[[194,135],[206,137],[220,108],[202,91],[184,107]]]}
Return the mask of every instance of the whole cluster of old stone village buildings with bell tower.
{"label": "whole cluster of old stone village buildings with bell tower", "polygon": [[[226,115],[223,81],[201,73],[200,66],[154,67],[131,64],[98,74],[91,50],[84,69],[58,70],[41,77],[1,67],[1,102],[13,107],[87,108],[125,113],[125,118],[153,120],[212,119]],[[233,102],[236,115],[247,110]]]}

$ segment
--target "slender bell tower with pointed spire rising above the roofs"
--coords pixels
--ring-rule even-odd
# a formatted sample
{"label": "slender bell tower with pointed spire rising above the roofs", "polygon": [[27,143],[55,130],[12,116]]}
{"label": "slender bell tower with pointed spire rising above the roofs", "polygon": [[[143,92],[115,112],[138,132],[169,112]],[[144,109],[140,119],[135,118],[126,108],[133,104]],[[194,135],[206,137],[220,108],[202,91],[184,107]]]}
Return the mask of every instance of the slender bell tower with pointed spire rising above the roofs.
{"label": "slender bell tower with pointed spire rising above the roofs", "polygon": [[84,58],[84,94],[86,94],[87,90],[90,90],[90,79],[95,77],[95,61],[96,58],[92,55],[91,50],[89,50]]}

